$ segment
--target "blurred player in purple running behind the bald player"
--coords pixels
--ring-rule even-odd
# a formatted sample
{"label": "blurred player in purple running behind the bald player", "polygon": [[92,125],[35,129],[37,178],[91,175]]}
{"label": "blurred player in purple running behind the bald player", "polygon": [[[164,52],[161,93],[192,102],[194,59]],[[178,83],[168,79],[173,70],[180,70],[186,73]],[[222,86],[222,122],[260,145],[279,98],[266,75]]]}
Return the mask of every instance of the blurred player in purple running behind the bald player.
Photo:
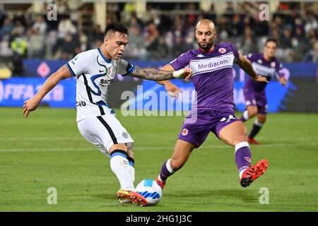
{"label": "blurred player in purple running behind the bald player", "polygon": [[[269,38],[265,42],[264,53],[249,54],[247,59],[252,62],[252,66],[257,74],[264,76],[268,81],[271,81],[273,77],[276,77],[282,85],[286,85],[287,80],[282,73],[279,73],[282,69],[282,65],[275,57],[277,45],[278,42],[275,39]],[[247,119],[250,119],[257,114],[257,119],[254,121],[252,131],[247,137],[247,141],[250,144],[259,144],[259,142],[254,140],[254,136],[259,133],[261,126],[263,126],[266,121],[266,85],[267,83],[257,83],[248,78],[243,88],[246,110],[240,120],[243,122],[247,121]]]}

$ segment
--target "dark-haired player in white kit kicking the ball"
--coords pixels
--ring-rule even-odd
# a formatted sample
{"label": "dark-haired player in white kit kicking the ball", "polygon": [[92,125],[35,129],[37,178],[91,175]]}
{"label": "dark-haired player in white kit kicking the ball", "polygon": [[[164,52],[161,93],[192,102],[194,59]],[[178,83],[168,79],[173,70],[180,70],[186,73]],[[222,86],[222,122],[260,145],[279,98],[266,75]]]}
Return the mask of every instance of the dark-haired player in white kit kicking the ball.
{"label": "dark-haired player in white kit kicking the ball", "polygon": [[117,73],[153,81],[172,78],[189,78],[191,69],[162,71],[142,69],[121,59],[128,44],[128,30],[122,23],[111,23],[105,29],[104,42],[98,49],[81,52],[66,65],[53,73],[34,97],[26,100],[23,114],[35,110],[47,93],[59,81],[72,76],[76,81],[76,108],[78,130],[87,141],[93,143],[102,153],[110,156],[110,167],[119,180],[117,192],[119,201],[131,201],[146,206],[146,198],[135,191],[134,159],[129,133],[107,105],[107,91]]}

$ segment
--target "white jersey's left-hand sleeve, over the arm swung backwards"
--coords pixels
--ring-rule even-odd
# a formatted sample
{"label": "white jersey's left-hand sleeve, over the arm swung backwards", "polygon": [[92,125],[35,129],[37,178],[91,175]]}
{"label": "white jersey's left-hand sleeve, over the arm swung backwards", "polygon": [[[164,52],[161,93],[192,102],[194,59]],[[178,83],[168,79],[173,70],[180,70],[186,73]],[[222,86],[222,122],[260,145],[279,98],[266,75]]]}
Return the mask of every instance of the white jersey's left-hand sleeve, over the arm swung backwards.
{"label": "white jersey's left-hand sleeve, over the arm swung backwards", "polygon": [[90,62],[91,57],[88,56],[88,53],[81,52],[77,54],[76,57],[71,59],[66,63],[66,66],[69,68],[71,75],[76,77],[81,75],[81,73],[87,72],[87,66]]}

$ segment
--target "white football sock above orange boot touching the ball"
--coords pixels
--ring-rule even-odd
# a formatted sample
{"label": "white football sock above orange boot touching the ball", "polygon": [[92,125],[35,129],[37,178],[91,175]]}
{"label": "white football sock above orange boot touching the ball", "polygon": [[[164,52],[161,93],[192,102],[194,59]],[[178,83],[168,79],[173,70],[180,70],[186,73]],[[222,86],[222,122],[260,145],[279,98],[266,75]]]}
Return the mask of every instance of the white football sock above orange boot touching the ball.
{"label": "white football sock above orange boot touching the ball", "polygon": [[120,189],[135,191],[134,183],[131,181],[129,166],[129,161],[122,155],[115,155],[110,159],[110,168],[119,180]]}

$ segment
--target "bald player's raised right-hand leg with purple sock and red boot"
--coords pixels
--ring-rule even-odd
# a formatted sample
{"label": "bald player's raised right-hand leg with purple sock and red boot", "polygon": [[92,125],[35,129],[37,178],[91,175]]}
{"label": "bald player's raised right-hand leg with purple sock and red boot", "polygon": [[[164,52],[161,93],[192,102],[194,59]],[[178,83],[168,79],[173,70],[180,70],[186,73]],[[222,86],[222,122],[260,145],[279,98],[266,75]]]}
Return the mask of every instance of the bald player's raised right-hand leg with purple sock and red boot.
{"label": "bald player's raised right-hand leg with purple sock and red boot", "polygon": [[253,167],[249,143],[246,141],[246,129],[242,121],[234,121],[220,130],[219,137],[228,145],[235,146],[235,162],[240,176],[240,184],[247,187],[267,169],[267,161],[261,160]]}

